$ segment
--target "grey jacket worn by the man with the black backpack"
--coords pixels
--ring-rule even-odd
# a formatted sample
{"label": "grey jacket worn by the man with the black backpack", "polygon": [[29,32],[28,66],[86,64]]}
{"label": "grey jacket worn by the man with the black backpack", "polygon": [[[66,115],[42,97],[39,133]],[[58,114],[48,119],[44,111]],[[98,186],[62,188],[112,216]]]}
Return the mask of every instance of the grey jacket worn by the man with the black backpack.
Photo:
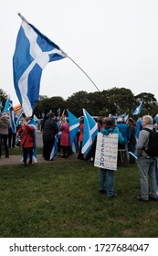
{"label": "grey jacket worn by the man with the black backpack", "polygon": [[[149,129],[153,129],[153,124],[146,124],[143,128],[149,128]],[[137,145],[136,145],[136,153],[138,158],[140,158],[141,156],[145,157],[145,158],[155,158],[155,157],[151,157],[149,155],[147,155],[144,151],[144,149],[147,149],[147,145],[149,142],[149,132],[142,130],[139,134],[139,138],[137,141]]]}

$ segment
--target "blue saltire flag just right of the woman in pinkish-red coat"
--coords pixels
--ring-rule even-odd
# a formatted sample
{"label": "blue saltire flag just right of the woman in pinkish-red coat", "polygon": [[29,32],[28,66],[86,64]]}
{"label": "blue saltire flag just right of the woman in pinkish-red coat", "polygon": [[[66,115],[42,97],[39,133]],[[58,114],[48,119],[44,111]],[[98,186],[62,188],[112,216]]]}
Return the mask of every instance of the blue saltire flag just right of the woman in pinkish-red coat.
{"label": "blue saltire flag just right of the woman in pinkish-red coat", "polygon": [[[68,110],[67,110],[68,111]],[[74,153],[77,153],[77,133],[79,132],[79,118],[68,111],[69,140]]]}

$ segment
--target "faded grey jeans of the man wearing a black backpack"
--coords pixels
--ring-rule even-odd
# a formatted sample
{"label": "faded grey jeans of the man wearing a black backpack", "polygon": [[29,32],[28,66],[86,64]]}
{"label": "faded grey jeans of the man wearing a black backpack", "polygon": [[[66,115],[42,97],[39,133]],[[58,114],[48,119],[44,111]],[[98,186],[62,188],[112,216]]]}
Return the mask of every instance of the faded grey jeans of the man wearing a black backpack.
{"label": "faded grey jeans of the man wearing a black backpack", "polygon": [[138,159],[141,179],[141,197],[148,200],[149,195],[156,197],[156,159],[141,156]]}

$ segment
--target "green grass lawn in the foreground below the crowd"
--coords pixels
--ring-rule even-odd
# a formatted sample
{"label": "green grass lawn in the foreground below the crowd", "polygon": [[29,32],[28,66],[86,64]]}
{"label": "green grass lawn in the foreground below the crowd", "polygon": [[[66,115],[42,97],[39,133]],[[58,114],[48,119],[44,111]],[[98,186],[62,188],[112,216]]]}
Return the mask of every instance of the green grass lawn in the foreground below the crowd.
{"label": "green grass lawn in the foreground below the crowd", "polygon": [[157,202],[135,199],[137,166],[116,172],[118,197],[100,195],[98,180],[85,161],[0,166],[0,237],[158,237]]}

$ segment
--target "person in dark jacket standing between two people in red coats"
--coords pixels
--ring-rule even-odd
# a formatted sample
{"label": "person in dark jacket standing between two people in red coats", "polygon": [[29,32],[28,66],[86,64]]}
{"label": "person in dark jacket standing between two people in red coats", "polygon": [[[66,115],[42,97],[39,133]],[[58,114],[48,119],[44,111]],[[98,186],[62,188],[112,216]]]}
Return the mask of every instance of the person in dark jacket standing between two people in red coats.
{"label": "person in dark jacket standing between two people in red coats", "polygon": [[48,119],[43,127],[43,157],[49,161],[50,154],[54,145],[55,135],[58,133],[58,125],[54,112],[48,113]]}

